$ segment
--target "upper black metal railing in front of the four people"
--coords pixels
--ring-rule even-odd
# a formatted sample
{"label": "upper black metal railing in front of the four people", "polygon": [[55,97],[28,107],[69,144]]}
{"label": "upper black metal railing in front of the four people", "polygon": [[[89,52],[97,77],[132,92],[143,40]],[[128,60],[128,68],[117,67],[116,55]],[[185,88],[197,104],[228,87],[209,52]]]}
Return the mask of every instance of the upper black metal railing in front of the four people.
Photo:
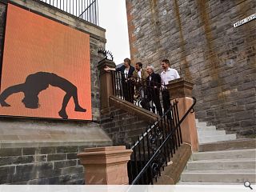
{"label": "upper black metal railing in front of the four people", "polygon": [[167,91],[166,85],[117,71],[112,71],[112,84],[114,96],[162,116],[162,94]]}

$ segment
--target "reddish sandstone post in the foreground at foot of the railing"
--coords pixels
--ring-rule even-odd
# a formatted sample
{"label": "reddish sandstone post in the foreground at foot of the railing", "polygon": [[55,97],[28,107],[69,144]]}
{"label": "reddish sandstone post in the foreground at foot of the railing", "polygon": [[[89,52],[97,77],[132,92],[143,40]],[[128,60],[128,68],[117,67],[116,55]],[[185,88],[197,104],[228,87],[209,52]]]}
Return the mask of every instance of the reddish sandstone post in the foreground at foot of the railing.
{"label": "reddish sandstone post in the foreground at foot of the railing", "polygon": [[128,185],[127,163],[133,150],[126,146],[87,148],[78,154],[86,185]]}

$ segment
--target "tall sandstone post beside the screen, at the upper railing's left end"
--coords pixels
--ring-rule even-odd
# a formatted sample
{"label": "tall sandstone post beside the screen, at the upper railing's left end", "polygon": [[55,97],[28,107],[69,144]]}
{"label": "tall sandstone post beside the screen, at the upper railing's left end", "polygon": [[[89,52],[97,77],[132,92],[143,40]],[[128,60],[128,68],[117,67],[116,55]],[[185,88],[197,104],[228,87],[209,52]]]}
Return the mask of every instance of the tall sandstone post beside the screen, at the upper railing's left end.
{"label": "tall sandstone post beside the screen, at the upper railing's left end", "polygon": [[111,71],[106,71],[104,68],[109,66],[110,68],[115,67],[114,62],[103,59],[98,62],[99,78],[100,78],[100,100],[101,100],[101,112],[102,114],[109,110],[109,98],[113,95],[113,82]]}

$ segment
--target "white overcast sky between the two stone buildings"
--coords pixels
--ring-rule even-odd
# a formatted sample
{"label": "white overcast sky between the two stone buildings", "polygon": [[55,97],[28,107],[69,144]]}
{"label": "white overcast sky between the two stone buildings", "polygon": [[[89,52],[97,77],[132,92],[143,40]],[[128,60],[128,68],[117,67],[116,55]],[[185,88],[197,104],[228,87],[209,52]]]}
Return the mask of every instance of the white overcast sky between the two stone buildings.
{"label": "white overcast sky between the two stone buildings", "polygon": [[98,0],[99,26],[106,29],[106,50],[114,54],[116,65],[130,58],[126,0]]}

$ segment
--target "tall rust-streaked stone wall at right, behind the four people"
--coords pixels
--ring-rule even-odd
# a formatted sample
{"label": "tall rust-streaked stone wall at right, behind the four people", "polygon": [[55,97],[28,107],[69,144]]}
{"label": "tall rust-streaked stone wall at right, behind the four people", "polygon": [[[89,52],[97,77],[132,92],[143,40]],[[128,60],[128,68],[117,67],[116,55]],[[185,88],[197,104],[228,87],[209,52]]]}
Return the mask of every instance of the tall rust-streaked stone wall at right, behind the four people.
{"label": "tall rust-streaked stone wall at right, behind the four people", "polygon": [[196,117],[218,130],[256,134],[254,0],[126,0],[133,62],[171,67],[194,82]]}

